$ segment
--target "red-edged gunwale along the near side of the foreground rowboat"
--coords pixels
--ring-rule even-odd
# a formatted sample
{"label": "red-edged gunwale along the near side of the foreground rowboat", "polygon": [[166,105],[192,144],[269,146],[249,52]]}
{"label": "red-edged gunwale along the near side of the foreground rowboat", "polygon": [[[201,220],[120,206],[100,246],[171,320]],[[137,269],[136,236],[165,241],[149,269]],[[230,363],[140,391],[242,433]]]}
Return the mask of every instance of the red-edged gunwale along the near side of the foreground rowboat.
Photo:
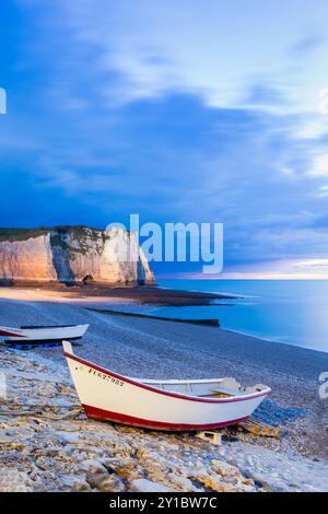
{"label": "red-edged gunwale along the near side of the foreground rowboat", "polygon": [[268,396],[271,393],[271,388],[267,387],[266,389],[262,389],[258,393],[245,394],[243,396],[236,395],[230,398],[203,398],[199,396],[192,396],[192,395],[186,395],[181,393],[174,393],[169,390],[159,389],[157,387],[153,387],[148,384],[144,384],[143,382],[139,382],[136,378],[130,378],[128,376],[120,375],[119,373],[115,373],[110,370],[106,370],[105,367],[102,367],[98,364],[94,364],[93,362],[90,362],[85,359],[77,357],[73,353],[70,353],[68,351],[65,351],[63,354],[67,359],[72,359],[73,361],[80,362],[81,364],[84,364],[89,367],[99,371],[101,373],[105,373],[106,375],[113,376],[114,378],[118,378],[122,382],[127,382],[128,384],[134,385],[142,389],[151,390],[152,393],[156,393],[163,396],[169,396],[173,398],[179,398],[179,399],[189,400],[189,401],[199,401],[202,404],[233,404],[234,401],[247,401],[247,400],[251,400],[255,398],[259,398],[261,396]]}

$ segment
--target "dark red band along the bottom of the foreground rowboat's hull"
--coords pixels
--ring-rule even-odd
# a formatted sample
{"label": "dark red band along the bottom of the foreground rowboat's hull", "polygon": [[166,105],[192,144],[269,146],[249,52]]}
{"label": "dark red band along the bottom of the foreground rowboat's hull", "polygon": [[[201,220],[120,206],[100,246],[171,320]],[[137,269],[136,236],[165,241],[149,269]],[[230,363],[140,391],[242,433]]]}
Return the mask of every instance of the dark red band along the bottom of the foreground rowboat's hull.
{"label": "dark red band along the bottom of the foreground rowboat's hull", "polygon": [[99,421],[112,421],[114,423],[128,424],[129,427],[140,427],[142,429],[156,429],[165,431],[194,431],[194,430],[213,430],[222,429],[223,427],[230,427],[233,424],[241,423],[245,421],[246,418],[241,418],[237,420],[218,422],[218,423],[208,423],[208,424],[184,424],[184,423],[166,423],[163,421],[152,421],[144,420],[142,418],[134,418],[133,416],[120,414],[118,412],[110,412],[109,410],[98,409],[97,407],[92,407],[90,405],[83,405],[83,409],[87,418],[99,420]]}

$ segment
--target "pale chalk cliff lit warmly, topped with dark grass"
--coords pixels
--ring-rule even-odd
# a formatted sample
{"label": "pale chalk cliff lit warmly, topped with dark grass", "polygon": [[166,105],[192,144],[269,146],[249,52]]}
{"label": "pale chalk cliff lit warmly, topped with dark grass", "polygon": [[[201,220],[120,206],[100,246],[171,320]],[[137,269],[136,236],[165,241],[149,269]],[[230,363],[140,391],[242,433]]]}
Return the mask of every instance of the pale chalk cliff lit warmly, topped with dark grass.
{"label": "pale chalk cliff lit warmly, topped with dark grass", "polygon": [[[118,257],[117,248],[126,249]],[[120,227],[0,229],[0,279],[110,284],[154,282],[137,236]]]}

